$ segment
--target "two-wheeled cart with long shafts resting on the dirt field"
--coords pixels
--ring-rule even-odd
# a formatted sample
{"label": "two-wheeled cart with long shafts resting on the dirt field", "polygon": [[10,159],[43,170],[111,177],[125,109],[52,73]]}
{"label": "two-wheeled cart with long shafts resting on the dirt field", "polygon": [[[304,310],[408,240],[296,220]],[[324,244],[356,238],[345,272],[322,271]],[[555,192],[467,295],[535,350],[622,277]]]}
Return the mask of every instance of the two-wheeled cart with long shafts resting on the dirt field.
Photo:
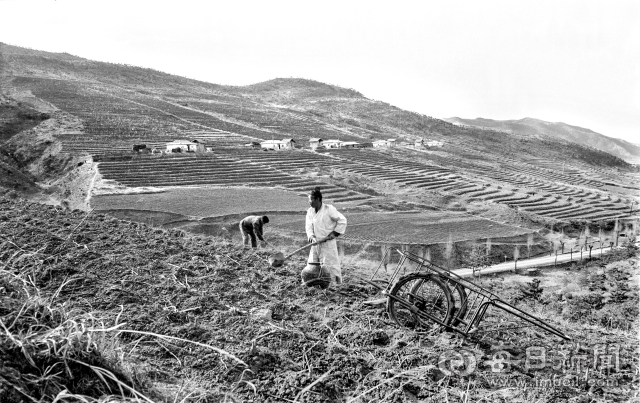
{"label": "two-wheeled cart with long shafts resting on the dirt field", "polygon": [[[397,266],[389,280],[377,278],[392,251],[400,255]],[[401,272],[408,273],[398,278]],[[371,277],[362,280],[386,296],[389,316],[402,327],[422,332],[444,328],[467,337],[535,326],[570,340],[549,323],[516,308],[486,288],[409,251],[388,248]],[[509,317],[516,320],[508,320]],[[514,322],[518,319],[520,325],[516,326]]]}

